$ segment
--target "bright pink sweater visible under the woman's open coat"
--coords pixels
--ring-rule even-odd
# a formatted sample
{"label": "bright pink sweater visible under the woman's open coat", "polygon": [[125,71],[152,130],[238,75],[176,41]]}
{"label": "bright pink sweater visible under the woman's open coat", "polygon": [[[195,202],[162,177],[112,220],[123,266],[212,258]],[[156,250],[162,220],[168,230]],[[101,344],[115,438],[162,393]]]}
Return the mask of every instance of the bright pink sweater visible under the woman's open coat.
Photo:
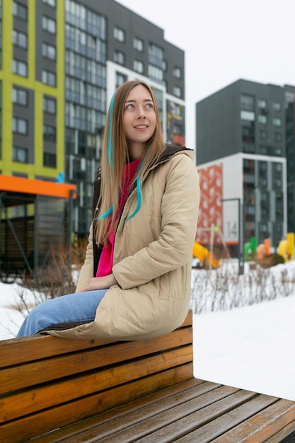
{"label": "bright pink sweater visible under the woman's open coat", "polygon": [[[130,187],[134,180],[134,176],[135,173],[137,172],[140,161],[141,159],[137,159],[125,165],[123,171],[123,175],[125,175],[125,180],[123,183],[122,192],[120,193],[119,197],[117,217],[120,215],[123,206],[125,205]],[[100,255],[100,260],[98,263],[98,270],[96,272],[96,277],[103,277],[104,275],[109,275],[112,273],[114,242],[115,242],[115,232],[113,232],[108,236],[108,242],[103,247],[103,251]]]}

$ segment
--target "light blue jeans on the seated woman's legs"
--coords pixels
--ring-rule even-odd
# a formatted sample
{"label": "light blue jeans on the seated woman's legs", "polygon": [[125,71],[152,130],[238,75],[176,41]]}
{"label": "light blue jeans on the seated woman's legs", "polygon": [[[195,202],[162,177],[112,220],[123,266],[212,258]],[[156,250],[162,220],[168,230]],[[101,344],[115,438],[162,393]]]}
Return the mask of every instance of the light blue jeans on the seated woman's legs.
{"label": "light blue jeans on the seated woman's legs", "polygon": [[[93,321],[96,309],[108,289],[76,292],[50,299],[35,306],[23,322],[16,337],[37,334],[40,330],[58,323],[71,321]],[[52,328],[54,329],[54,327]]]}

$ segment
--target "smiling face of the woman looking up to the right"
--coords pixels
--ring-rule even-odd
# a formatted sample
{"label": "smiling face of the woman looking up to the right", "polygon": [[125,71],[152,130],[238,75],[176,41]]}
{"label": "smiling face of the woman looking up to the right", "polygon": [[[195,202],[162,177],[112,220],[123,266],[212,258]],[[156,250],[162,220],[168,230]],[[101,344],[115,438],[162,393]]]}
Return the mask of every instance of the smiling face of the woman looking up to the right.
{"label": "smiling face of the woman looking up to the right", "polygon": [[123,127],[129,147],[145,146],[156,130],[156,113],[154,102],[148,89],[142,85],[132,88],[127,96]]}

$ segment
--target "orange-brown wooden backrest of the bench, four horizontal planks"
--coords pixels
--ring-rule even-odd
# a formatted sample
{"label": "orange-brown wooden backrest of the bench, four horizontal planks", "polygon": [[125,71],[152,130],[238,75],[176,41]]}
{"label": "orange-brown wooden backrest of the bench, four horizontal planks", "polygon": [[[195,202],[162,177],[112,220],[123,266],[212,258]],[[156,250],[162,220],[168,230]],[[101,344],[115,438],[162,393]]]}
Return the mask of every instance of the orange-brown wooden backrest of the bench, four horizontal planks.
{"label": "orange-brown wooden backrest of the bench, four horizontal planks", "polygon": [[0,355],[1,443],[23,442],[191,378],[192,311],[154,340],[33,336],[1,341]]}

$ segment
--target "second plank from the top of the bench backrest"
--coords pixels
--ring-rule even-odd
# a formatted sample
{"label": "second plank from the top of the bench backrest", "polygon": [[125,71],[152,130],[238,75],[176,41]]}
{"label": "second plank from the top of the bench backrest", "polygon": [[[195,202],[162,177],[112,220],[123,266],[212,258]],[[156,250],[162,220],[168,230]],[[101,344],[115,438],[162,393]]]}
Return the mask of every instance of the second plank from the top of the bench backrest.
{"label": "second plank from the top of the bench backrest", "polygon": [[[83,349],[68,355],[1,369],[0,393],[16,391],[45,381],[91,371],[118,362],[126,362],[129,359],[190,343],[192,343],[192,328],[184,328],[145,343],[136,341],[113,343],[106,347]],[[159,364],[162,361],[159,360]],[[158,370],[161,370],[161,366],[158,367]]]}

